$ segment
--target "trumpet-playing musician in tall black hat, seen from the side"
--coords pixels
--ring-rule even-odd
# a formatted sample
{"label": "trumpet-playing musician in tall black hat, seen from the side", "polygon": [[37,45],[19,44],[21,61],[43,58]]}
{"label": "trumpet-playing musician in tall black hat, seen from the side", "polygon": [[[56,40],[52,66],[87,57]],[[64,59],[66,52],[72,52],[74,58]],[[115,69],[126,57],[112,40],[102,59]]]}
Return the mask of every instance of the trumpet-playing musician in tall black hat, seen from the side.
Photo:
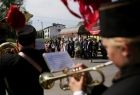
{"label": "trumpet-playing musician in tall black hat, seen from the side", "polygon": [[[102,95],[140,95],[139,6],[139,0],[119,0],[100,8],[102,43],[108,58],[119,69],[112,86]],[[85,95],[84,78],[70,79],[74,95]]]}

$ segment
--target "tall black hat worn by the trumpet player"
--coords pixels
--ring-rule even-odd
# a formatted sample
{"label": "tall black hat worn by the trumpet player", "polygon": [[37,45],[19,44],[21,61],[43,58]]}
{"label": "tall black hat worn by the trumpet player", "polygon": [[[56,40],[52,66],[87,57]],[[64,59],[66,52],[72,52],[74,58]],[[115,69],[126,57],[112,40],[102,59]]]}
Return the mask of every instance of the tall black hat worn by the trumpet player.
{"label": "tall black hat worn by the trumpet player", "polygon": [[140,0],[118,0],[100,7],[100,35],[106,38],[140,36]]}

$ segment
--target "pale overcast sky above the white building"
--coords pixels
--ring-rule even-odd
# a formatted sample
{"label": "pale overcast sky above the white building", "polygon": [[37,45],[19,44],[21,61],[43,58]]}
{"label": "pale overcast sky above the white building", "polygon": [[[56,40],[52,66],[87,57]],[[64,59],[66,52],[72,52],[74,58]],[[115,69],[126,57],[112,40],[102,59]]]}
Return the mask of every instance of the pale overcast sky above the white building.
{"label": "pale overcast sky above the white building", "polygon": [[[67,27],[73,27],[81,20],[74,17],[61,0],[24,0],[24,6],[27,11],[33,14],[33,25],[37,30],[51,26],[52,23],[64,24]],[[68,0],[70,7],[75,12],[78,11],[77,3]],[[41,24],[42,23],[42,24]]]}

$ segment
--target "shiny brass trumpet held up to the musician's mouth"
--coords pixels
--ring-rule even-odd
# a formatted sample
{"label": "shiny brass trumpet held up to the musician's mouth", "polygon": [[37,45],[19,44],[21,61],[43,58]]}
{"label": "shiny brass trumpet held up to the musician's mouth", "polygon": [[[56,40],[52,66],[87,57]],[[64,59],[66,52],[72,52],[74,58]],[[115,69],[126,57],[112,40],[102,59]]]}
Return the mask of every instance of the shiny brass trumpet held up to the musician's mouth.
{"label": "shiny brass trumpet held up to the musician's mouth", "polygon": [[[93,80],[91,83],[89,83],[87,85],[100,85],[101,83],[104,82],[105,76],[104,76],[103,72],[99,69],[103,68],[103,67],[106,67],[106,66],[109,66],[111,64],[112,64],[112,61],[109,61],[109,62],[106,62],[106,63],[103,63],[103,64],[99,64],[97,66],[85,68],[85,69],[82,69],[82,70],[79,70],[79,71],[76,71],[76,72],[69,72],[69,73],[66,73],[66,74],[59,75],[59,76],[53,76],[52,73],[44,72],[39,76],[39,83],[42,86],[42,88],[51,89],[54,86],[56,80],[60,80],[60,82],[61,82],[61,79],[68,78],[69,76],[72,76],[72,75],[75,75],[75,74],[78,75],[78,74],[83,73],[83,72],[96,71],[101,75],[101,81]],[[60,83],[60,86],[62,86],[62,83]],[[60,88],[63,89],[63,90],[68,89],[68,87],[67,88],[60,87]]]}

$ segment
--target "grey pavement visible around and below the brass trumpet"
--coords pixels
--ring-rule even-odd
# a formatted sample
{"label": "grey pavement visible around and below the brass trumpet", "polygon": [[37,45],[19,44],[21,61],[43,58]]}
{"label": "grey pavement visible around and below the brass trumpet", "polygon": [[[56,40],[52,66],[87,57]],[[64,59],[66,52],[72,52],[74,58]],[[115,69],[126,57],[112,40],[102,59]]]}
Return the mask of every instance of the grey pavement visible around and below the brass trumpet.
{"label": "grey pavement visible around and below the brass trumpet", "polygon": [[[75,63],[83,63],[85,65],[87,65],[88,67],[93,67],[102,63],[107,62],[107,59],[93,59],[93,62],[91,63],[91,60],[84,60],[84,59],[73,59]],[[115,72],[117,71],[117,68],[114,65],[109,65],[107,67],[101,68],[101,71],[104,73],[105,75],[105,82],[104,84],[106,86],[110,86],[111,85],[111,80],[115,74]],[[90,72],[91,75],[93,76],[93,78],[97,78],[97,79],[101,79],[99,74],[97,72]],[[57,74],[58,76],[59,74]],[[63,91],[62,89],[60,89],[59,87],[59,81],[55,81],[55,85],[52,89],[48,89],[48,90],[44,90],[44,95],[72,95],[71,91]]]}

